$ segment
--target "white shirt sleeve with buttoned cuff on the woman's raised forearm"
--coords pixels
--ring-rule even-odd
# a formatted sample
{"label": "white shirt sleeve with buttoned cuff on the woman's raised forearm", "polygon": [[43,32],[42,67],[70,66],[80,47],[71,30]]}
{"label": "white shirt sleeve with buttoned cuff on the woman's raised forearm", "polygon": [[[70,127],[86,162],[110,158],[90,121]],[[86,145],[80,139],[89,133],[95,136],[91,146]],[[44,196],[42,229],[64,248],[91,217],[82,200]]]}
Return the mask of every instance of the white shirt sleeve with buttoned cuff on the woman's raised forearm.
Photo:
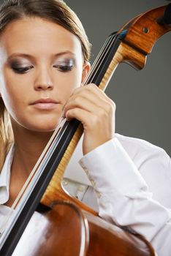
{"label": "white shirt sleeve with buttoned cuff on the woman's raised forearm", "polygon": [[[152,162],[151,168],[157,168],[155,161]],[[80,159],[80,165],[96,191],[99,216],[119,225],[129,225],[151,241],[159,256],[169,256],[171,211],[153,200],[140,171],[118,139],[86,154]]]}

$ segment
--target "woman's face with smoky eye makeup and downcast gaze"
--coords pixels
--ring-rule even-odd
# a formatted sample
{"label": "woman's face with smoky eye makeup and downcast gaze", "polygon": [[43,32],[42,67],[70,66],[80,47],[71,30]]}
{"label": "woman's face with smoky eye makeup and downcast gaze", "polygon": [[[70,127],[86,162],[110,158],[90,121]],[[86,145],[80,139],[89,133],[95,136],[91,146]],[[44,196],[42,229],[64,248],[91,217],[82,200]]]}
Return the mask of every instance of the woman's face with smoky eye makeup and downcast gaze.
{"label": "woman's face with smoky eye makeup and downcast gaze", "polygon": [[0,93],[12,124],[55,129],[88,72],[83,62],[79,39],[62,26],[41,18],[10,23],[0,37]]}

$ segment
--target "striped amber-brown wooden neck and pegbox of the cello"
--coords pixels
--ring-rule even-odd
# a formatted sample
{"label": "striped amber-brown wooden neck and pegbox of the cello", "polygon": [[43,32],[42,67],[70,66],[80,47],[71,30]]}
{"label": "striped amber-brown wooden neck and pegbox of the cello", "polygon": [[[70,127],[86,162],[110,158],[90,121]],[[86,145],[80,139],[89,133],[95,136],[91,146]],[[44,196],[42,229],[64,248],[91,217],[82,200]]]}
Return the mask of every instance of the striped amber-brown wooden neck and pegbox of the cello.
{"label": "striped amber-brown wooden neck and pegbox of the cello", "polygon": [[[130,21],[130,26],[129,23],[126,23],[126,25],[122,27],[119,32],[129,27],[128,32],[113,56],[113,59],[107,68],[107,72],[104,74],[102,82],[99,84],[100,89],[106,89],[113,72],[115,72],[116,67],[118,67],[118,64],[124,62],[131,65],[135,69],[142,69],[145,66],[146,57],[149,53],[151,53],[153,45],[157,39],[171,30],[171,26],[161,26],[156,22],[157,18],[164,15],[165,7],[166,6],[159,7],[155,10],[145,12],[142,15],[138,15],[137,18]],[[148,33],[147,30],[145,32],[145,29],[148,29]],[[47,187],[45,195],[42,197],[42,203],[45,205],[50,205],[50,200],[70,200],[75,202],[77,206],[96,214],[96,212],[94,212],[91,208],[88,208],[88,206],[80,203],[80,201],[75,199],[75,197],[67,194],[61,187],[64,170],[66,169],[69,159],[72,157],[75,146],[80,140],[82,133],[83,127],[80,124],[80,127],[75,132],[74,138],[72,139],[71,143],[69,143],[69,147],[66,149],[64,157],[62,158],[56,173]]]}

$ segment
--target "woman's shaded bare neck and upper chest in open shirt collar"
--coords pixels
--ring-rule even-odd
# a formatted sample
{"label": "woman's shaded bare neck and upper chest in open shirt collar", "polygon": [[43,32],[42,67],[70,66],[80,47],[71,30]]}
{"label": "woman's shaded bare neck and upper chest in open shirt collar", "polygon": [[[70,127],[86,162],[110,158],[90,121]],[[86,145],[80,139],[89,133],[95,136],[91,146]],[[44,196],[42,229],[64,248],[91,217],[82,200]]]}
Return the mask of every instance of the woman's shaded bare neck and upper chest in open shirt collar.
{"label": "woman's shaded bare neck and upper chest in open shirt collar", "polygon": [[11,167],[7,206],[12,206],[53,134],[53,132],[33,132],[16,124],[12,124],[12,129],[15,138],[15,152]]}

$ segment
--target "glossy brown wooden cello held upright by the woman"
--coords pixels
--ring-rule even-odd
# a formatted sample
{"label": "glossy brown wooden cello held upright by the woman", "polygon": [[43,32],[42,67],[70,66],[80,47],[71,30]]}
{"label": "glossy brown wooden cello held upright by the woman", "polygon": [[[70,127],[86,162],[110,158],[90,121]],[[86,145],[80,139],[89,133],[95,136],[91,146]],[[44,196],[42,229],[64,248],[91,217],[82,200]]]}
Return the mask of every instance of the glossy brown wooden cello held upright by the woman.
{"label": "glossy brown wooden cello held upright by the woman", "polygon": [[[126,62],[136,69],[142,69],[145,65],[146,56],[151,53],[156,40],[171,30],[170,23],[169,4],[167,7],[159,7],[139,15],[123,26],[120,31],[111,34],[94,62],[85,84],[96,83],[100,89],[105,89],[115,68],[121,62]],[[75,223],[78,223],[78,226],[80,224],[78,227],[80,233],[78,233],[81,234],[80,239],[80,235],[76,230],[78,240],[74,241],[76,245],[80,244],[80,249],[77,249],[77,252],[71,252],[73,241],[69,236],[71,248],[68,248],[68,255],[113,255],[113,252],[115,252],[115,255],[154,255],[152,246],[148,241],[145,241],[145,238],[142,238],[142,236],[128,227],[116,227],[98,217],[94,217],[92,214],[95,216],[97,214],[92,209],[67,195],[61,188],[64,169],[82,133],[83,127],[79,121],[68,122],[64,120],[53,134],[37,165],[34,167],[30,179],[15,201],[15,213],[7,219],[7,225],[1,236],[1,255],[11,255],[14,249],[14,254],[17,253],[16,250],[20,246],[20,242],[18,243],[20,236],[26,225],[30,224],[28,221],[36,209],[41,214],[41,224],[45,218],[45,227],[42,227],[41,239],[34,238],[34,241],[41,240],[39,242],[41,247],[37,243],[35,247],[31,244],[32,251],[26,253],[27,255],[56,255],[55,251],[46,251],[46,248],[52,249],[53,245],[56,248],[57,241],[60,241],[58,233],[56,233],[58,230],[57,217],[60,215],[66,218],[69,217],[69,210],[64,210],[65,208],[71,210],[69,220],[75,220],[75,214],[79,217],[77,221],[74,221],[74,225]],[[39,205],[40,201],[41,205]],[[63,201],[64,203],[58,203],[58,201]],[[75,205],[66,203],[66,201],[74,203],[78,208]],[[60,209],[59,206],[61,206]],[[83,209],[83,211],[80,211],[79,208]],[[65,211],[67,211],[66,215],[64,214]],[[91,214],[88,214],[87,211]],[[71,224],[69,220],[66,222],[67,224]],[[60,221],[60,223],[62,222]],[[66,226],[66,230],[68,230],[68,227]],[[64,231],[64,226],[61,230]],[[88,235],[88,233],[90,234]],[[66,236],[66,234],[62,233],[61,236]],[[106,243],[107,246],[102,248],[104,244],[101,243],[106,241],[106,238],[108,238],[108,244]],[[28,244],[28,238],[26,238],[26,241]],[[139,245],[137,245],[138,241],[140,242]],[[50,246],[47,246],[48,243]],[[59,243],[58,246],[64,248],[65,244],[61,246]],[[29,244],[28,247],[30,247]],[[109,249],[108,252],[107,248]],[[66,253],[61,251],[57,255],[67,255]]]}

